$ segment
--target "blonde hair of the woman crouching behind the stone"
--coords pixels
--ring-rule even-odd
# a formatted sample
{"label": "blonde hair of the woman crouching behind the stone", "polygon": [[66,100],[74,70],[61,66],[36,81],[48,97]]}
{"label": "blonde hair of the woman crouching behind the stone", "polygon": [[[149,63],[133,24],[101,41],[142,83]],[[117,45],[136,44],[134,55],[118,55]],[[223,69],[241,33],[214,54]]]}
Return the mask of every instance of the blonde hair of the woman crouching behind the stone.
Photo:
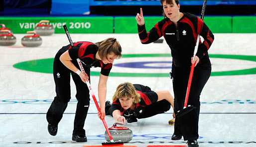
{"label": "blonde hair of the woman crouching behind the stone", "polygon": [[134,98],[133,103],[139,103],[140,101],[140,95],[129,82],[120,84],[112,99],[113,101],[117,101],[120,98]]}

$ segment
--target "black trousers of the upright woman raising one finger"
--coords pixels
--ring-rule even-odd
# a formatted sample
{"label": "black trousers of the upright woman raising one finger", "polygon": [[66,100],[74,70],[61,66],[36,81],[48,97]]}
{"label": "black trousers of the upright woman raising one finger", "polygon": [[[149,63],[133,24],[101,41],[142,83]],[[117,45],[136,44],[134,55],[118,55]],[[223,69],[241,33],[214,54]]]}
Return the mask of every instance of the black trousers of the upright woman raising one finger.
{"label": "black trousers of the upright woman raising one finger", "polygon": [[[182,110],[186,97],[188,79],[191,68],[179,68],[172,65],[173,91],[174,91],[174,111]],[[187,105],[196,108],[189,113],[176,117],[174,133],[183,136],[184,140],[197,140],[198,120],[200,112],[200,95],[211,74],[211,63],[198,64],[194,68],[189,98]]]}

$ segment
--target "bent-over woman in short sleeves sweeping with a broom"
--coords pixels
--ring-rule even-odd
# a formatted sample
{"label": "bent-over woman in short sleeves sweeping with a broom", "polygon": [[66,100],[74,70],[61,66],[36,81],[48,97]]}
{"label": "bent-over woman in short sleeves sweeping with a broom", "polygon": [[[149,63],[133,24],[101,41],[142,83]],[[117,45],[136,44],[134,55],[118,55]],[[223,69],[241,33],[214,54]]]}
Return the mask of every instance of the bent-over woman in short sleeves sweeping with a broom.
{"label": "bent-over woman in short sleeves sweeping with a broom", "polygon": [[[105,117],[105,100],[107,93],[107,80],[115,59],[122,57],[122,48],[115,38],[104,41],[77,42],[74,48],[70,45],[62,47],[56,54],[53,62],[53,76],[55,82],[56,97],[47,112],[48,132],[50,135],[57,134],[58,123],[67,107],[70,96],[70,73],[76,85],[76,98],[78,100],[74,120],[72,140],[76,142],[87,142],[84,123],[90,105],[89,89],[86,79],[90,81],[90,68],[101,67],[100,80],[98,84],[98,95],[100,100],[100,118]],[[83,63],[86,74],[79,69],[77,58]]]}

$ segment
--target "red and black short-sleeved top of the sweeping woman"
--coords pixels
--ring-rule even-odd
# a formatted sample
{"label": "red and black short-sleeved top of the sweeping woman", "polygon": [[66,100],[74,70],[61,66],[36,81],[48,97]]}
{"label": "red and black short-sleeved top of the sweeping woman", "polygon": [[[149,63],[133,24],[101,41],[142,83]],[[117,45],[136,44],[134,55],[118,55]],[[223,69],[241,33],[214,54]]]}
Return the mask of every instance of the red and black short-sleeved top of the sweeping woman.
{"label": "red and black short-sleeved top of the sweeping woman", "polygon": [[78,66],[77,58],[83,63],[84,68],[91,67],[101,67],[101,74],[109,76],[110,70],[112,69],[113,64],[104,64],[101,60],[96,59],[96,53],[98,47],[91,42],[76,42],[74,43],[74,48],[71,48],[70,45],[62,48],[62,52],[68,50],[69,55],[72,59],[72,63]]}

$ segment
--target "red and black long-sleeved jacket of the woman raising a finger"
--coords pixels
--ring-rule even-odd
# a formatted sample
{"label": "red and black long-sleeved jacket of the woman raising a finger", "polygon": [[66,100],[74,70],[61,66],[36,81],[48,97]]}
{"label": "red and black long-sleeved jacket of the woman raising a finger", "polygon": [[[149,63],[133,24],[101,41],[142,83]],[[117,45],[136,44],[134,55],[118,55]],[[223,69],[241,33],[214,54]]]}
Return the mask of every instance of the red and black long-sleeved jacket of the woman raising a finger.
{"label": "red and black long-sleeved jacket of the woman raising a finger", "polygon": [[204,38],[204,42],[199,41],[196,55],[200,62],[209,60],[208,49],[211,47],[214,35],[202,19],[190,13],[184,13],[177,22],[177,27],[169,18],[164,18],[146,32],[145,25],[138,26],[138,35],[142,44],[149,44],[160,37],[164,37],[171,49],[171,55],[175,66],[186,68],[191,66],[197,35]]}

